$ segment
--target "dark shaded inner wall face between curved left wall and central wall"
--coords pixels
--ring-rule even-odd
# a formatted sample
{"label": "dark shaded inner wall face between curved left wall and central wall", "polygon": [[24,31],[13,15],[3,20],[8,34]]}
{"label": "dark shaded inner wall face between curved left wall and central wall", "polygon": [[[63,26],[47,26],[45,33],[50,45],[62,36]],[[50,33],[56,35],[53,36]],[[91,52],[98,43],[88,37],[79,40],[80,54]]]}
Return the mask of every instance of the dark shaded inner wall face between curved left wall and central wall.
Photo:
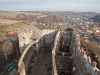
{"label": "dark shaded inner wall face between curved left wall and central wall", "polygon": [[54,46],[55,35],[57,32],[52,32],[43,35],[38,41],[38,52],[47,53],[50,52]]}

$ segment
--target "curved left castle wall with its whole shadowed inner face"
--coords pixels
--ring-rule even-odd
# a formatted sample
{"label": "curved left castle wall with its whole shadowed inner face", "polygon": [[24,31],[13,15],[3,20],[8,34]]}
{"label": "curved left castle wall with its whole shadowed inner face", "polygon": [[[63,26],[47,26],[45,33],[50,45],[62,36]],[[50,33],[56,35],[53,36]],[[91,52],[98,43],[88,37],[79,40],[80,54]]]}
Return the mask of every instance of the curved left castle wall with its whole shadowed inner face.
{"label": "curved left castle wall with its whole shadowed inner face", "polygon": [[18,72],[20,75],[27,75],[27,72],[32,68],[31,63],[36,62],[36,58],[34,57],[38,57],[40,52],[52,51],[56,33],[57,31],[43,35],[39,40],[27,45],[18,63]]}

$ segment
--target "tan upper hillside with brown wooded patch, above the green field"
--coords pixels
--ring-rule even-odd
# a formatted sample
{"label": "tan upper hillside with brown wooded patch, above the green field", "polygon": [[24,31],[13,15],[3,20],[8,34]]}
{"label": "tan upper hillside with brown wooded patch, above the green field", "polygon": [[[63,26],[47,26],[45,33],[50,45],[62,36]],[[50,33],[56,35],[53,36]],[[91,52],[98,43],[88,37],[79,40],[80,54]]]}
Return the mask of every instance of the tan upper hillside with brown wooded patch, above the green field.
{"label": "tan upper hillside with brown wooded patch, above the green field", "polygon": [[9,20],[13,24],[19,21],[30,23],[30,22],[36,21],[36,19],[47,17],[47,16],[48,15],[46,15],[45,13],[41,13],[41,12],[0,11],[0,24],[9,24]]}

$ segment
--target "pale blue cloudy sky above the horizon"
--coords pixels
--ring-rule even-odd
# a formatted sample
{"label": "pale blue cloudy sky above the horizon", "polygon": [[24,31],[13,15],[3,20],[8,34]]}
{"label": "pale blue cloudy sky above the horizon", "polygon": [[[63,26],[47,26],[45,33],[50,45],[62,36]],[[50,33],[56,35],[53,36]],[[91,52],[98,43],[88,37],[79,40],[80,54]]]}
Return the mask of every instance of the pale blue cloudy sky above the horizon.
{"label": "pale blue cloudy sky above the horizon", "polygon": [[100,13],[100,0],[0,0],[0,10]]}

